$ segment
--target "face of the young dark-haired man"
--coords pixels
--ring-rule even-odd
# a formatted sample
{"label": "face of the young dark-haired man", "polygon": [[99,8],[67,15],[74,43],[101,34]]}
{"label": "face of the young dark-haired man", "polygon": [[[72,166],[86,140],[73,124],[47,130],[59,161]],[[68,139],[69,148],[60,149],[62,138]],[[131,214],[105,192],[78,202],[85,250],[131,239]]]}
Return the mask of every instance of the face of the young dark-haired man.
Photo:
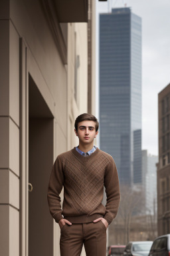
{"label": "face of the young dark-haired man", "polygon": [[77,131],[74,129],[80,143],[90,144],[97,137],[98,131],[95,128],[94,121],[82,121],[78,123]]}

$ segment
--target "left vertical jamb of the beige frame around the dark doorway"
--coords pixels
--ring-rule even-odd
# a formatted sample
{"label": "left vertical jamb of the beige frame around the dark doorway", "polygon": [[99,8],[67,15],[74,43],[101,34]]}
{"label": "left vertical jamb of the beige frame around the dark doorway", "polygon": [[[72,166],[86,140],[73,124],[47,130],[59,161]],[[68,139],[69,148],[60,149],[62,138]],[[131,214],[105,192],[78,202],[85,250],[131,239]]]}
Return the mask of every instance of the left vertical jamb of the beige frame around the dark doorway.
{"label": "left vertical jamb of the beige frame around the dark doorway", "polygon": [[19,255],[28,256],[29,73],[28,47],[23,38],[19,49]]}

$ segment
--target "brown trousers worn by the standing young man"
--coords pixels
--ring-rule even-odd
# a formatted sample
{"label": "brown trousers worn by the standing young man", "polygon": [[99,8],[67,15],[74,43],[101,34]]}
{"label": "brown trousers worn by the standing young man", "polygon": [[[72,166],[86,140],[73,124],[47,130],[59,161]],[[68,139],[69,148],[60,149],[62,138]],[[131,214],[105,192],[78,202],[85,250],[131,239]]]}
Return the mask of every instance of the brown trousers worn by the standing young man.
{"label": "brown trousers worn by the standing young man", "polygon": [[80,256],[82,246],[86,256],[106,256],[106,227],[97,223],[65,224],[60,235],[60,255]]}

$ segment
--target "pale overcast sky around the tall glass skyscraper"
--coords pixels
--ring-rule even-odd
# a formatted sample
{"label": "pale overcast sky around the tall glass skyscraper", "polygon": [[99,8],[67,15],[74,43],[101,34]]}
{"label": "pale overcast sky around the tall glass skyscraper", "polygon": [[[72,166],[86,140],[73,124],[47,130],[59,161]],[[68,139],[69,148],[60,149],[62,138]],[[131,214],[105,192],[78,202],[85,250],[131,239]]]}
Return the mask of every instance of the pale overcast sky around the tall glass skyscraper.
{"label": "pale overcast sky around the tall glass skyscraper", "polygon": [[[158,155],[157,94],[170,83],[170,1],[110,0],[110,10],[125,4],[142,19],[142,149]],[[108,2],[97,0],[96,27],[98,13],[105,12]],[[98,63],[98,32],[96,36]],[[98,84],[98,71],[96,75]]]}

